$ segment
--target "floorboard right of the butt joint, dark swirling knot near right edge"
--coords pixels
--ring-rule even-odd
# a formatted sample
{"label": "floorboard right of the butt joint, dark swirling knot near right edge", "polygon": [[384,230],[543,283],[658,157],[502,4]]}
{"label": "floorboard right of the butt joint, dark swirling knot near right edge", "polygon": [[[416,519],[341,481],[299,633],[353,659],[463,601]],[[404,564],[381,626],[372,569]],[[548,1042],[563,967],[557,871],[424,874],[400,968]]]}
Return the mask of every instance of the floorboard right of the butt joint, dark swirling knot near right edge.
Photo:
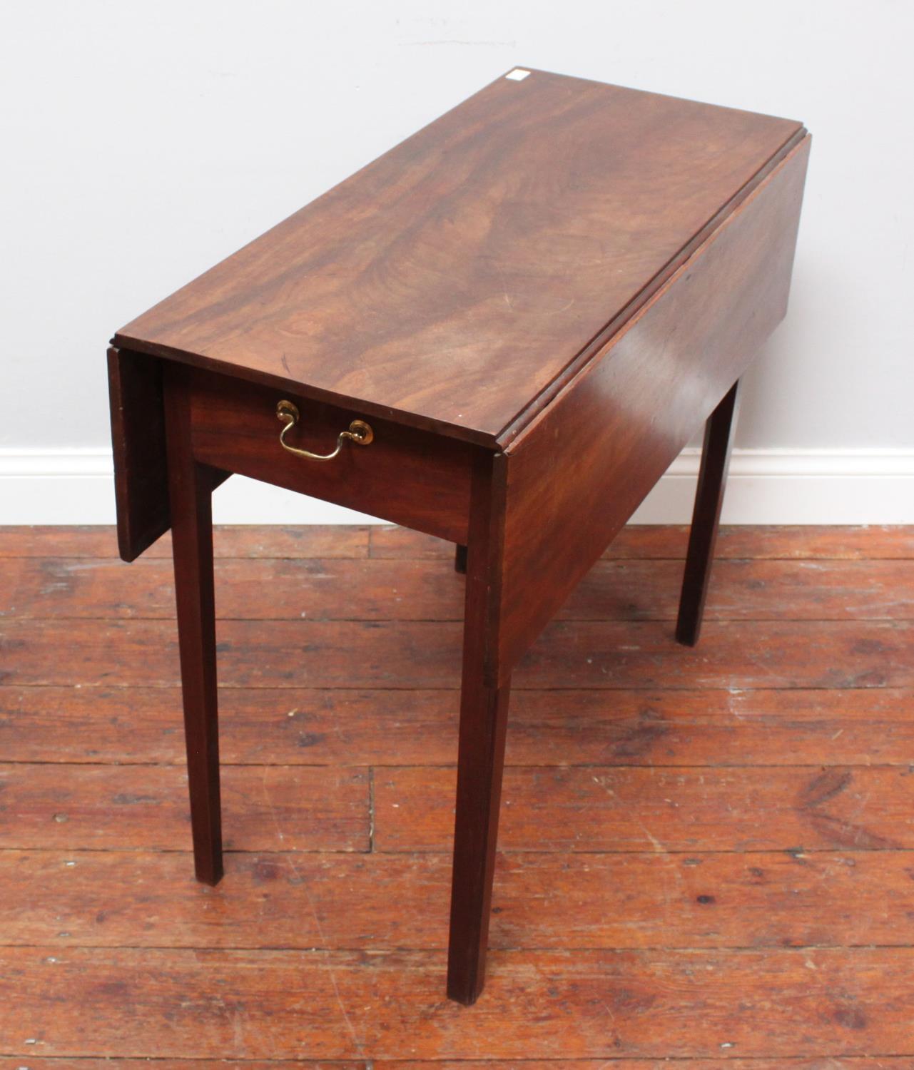
{"label": "floorboard right of the butt joint, dark swirling knot near right edge", "polygon": [[[447,851],[452,770],[375,777],[379,851]],[[816,851],[914,847],[907,766],[742,769],[509,768],[500,847],[508,851]]]}

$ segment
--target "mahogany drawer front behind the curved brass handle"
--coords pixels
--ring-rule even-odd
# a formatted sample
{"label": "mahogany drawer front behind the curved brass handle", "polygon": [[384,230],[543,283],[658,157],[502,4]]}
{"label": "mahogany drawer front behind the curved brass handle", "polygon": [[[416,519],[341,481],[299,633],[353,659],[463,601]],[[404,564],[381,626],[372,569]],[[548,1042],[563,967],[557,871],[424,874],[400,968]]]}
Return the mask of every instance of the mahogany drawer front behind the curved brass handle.
{"label": "mahogany drawer front behind the curved brass handle", "polygon": [[[392,523],[466,542],[470,472],[478,447],[350,409],[215,372],[181,368],[191,392],[191,437],[197,460],[263,483],[345,505]],[[300,418],[288,445],[331,453],[354,419],[374,432],[368,445],[344,440],[327,461],[283,448],[277,418],[291,401]]]}

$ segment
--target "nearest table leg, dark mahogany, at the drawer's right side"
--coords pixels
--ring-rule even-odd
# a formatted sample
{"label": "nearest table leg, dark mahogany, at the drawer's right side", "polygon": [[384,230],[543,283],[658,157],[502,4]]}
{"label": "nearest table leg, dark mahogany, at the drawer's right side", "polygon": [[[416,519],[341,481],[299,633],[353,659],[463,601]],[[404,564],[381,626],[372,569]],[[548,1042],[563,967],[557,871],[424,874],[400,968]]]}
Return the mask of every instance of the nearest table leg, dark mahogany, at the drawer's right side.
{"label": "nearest table leg, dark mahogany, at the drawer's right side", "polygon": [[447,952],[447,995],[461,1004],[475,1003],[485,979],[509,693],[509,682],[499,679],[490,660],[498,645],[501,570],[501,518],[490,493],[490,464],[487,460],[474,473],[467,559]]}

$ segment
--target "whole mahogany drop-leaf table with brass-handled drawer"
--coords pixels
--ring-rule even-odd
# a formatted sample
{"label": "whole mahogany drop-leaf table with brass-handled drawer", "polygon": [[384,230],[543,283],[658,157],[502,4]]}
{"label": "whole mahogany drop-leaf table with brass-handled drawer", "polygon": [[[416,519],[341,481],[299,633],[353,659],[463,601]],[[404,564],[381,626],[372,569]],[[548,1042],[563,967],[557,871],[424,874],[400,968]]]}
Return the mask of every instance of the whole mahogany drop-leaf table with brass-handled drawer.
{"label": "whole mahogany drop-leaf table with brass-handled drawer", "polygon": [[516,70],[115,335],[120,551],[171,528],[200,881],[223,873],[213,488],[238,472],[450,539],[467,593],[447,992],[476,999],[512,670],[706,422],[676,628],[696,642],[809,141]]}

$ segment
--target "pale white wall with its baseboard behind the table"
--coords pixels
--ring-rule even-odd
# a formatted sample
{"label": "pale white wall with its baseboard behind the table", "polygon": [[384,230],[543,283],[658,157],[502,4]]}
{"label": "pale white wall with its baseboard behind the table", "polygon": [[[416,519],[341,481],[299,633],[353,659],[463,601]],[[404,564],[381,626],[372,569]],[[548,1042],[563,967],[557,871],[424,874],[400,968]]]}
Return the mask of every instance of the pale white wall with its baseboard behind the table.
{"label": "pale white wall with its baseboard behind the table", "polygon": [[[912,36],[908,0],[5,0],[0,522],[109,520],[113,330],[516,64],[807,124],[729,519],[914,521]],[[683,518],[694,467],[642,517]]]}

